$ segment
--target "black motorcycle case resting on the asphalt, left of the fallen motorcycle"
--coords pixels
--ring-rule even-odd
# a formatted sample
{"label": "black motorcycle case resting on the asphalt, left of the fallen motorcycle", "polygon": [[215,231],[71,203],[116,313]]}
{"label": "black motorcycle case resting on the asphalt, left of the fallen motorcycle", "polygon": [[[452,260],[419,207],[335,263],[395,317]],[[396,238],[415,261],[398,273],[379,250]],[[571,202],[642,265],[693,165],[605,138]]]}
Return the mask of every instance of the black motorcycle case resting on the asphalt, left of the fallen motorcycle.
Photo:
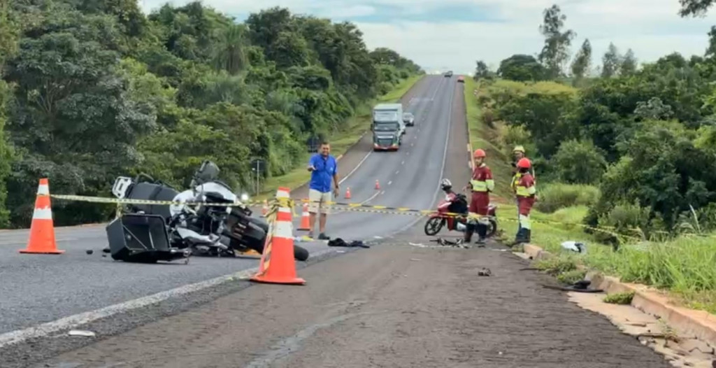
{"label": "black motorcycle case resting on the asphalt, left of the fallen motorcycle", "polygon": [[126,214],[109,223],[106,231],[110,253],[117,261],[155,263],[189,256],[170,246],[162,216]]}

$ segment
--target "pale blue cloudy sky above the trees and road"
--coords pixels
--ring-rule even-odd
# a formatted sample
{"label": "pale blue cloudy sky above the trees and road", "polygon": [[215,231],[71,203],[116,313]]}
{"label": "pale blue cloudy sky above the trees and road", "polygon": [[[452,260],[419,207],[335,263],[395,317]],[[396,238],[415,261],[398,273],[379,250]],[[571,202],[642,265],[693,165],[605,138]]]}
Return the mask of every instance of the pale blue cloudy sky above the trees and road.
{"label": "pale blue cloudy sky above the trees and road", "polygon": [[[169,2],[138,0],[145,12]],[[558,4],[567,16],[565,29],[576,37],[574,52],[584,39],[592,46],[598,67],[609,42],[624,53],[632,49],[639,62],[653,62],[672,52],[702,55],[707,32],[716,25],[716,10],[703,17],[681,18],[679,0],[203,0],[238,21],[248,14],[282,6],[296,14],[334,21],[352,21],[364,33],[369,49],[389,47],[427,72],[453,70],[471,74],[475,61],[497,69],[512,54],[540,52],[543,10]]]}

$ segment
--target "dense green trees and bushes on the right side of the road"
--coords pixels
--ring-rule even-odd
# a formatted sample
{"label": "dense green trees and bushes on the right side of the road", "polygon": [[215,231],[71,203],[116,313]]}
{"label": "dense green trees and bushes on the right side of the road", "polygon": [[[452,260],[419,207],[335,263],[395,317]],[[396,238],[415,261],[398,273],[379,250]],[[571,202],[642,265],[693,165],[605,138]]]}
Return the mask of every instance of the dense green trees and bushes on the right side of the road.
{"label": "dense green trees and bushes on the right side of the road", "polygon": [[[709,4],[682,0],[684,15]],[[533,82],[505,89],[503,81],[482,79],[485,70],[476,76],[490,90],[483,101],[490,120],[529,141],[541,183],[599,187],[585,219],[591,226],[638,227],[649,235],[696,220],[700,231],[716,229],[716,28],[703,57],[669,54],[642,67],[631,50],[620,55],[611,44],[601,72],[590,78],[589,40],[567,75],[557,66],[572,32],[561,31],[558,8],[545,14],[551,25],[543,28],[552,31],[543,60],[514,55],[498,70],[503,79]],[[581,89],[564,85],[566,77]],[[546,79],[554,82],[534,82]]]}

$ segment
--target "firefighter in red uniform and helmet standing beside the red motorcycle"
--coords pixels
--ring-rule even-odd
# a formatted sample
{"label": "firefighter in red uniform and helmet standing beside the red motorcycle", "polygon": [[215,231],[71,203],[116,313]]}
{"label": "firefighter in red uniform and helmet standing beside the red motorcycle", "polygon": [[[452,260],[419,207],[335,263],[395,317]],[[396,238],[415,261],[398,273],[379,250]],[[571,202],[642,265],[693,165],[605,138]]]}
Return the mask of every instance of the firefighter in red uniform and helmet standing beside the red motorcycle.
{"label": "firefighter in red uniform and helmet standing beside the red motorcycle", "polygon": [[[473,155],[473,178],[470,180],[470,188],[473,195],[470,198],[470,216],[465,228],[465,242],[470,242],[473,232],[478,231],[478,244],[485,243],[485,236],[488,233],[488,206],[490,205],[490,192],[495,190],[495,180],[492,171],[485,164],[485,151],[477,149]],[[479,219],[476,219],[479,216]]]}

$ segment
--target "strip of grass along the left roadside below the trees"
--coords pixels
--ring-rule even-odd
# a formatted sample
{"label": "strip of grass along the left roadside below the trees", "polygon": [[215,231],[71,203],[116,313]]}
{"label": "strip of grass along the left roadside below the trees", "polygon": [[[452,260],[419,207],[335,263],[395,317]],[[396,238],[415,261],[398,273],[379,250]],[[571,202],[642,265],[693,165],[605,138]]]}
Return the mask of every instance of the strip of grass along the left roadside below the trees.
{"label": "strip of grass along the left roadside below the trees", "polygon": [[[408,89],[410,89],[410,87],[412,87],[413,84],[415,84],[422,77],[422,75],[415,75],[407,79],[403,79],[402,82],[395,85],[395,88],[393,88],[392,91],[359,107],[359,109],[357,109],[357,115],[349,120],[346,128],[340,132],[335,132],[334,135],[329,138],[329,141],[331,142],[332,155],[335,157],[343,155],[349,147],[357,142],[359,138],[362,137],[363,133],[369,129],[371,123],[370,117],[374,104],[379,102],[400,101],[400,97],[405,95]],[[263,200],[264,198],[269,198],[276,193],[276,188],[279,187],[294,189],[306,183],[306,181],[310,178],[310,173],[306,171],[306,168],[304,168],[303,165],[301,165],[300,168],[295,168],[286,175],[276,176],[266,180],[266,183],[262,185],[263,188],[261,188],[261,195],[256,196],[254,199]]]}

